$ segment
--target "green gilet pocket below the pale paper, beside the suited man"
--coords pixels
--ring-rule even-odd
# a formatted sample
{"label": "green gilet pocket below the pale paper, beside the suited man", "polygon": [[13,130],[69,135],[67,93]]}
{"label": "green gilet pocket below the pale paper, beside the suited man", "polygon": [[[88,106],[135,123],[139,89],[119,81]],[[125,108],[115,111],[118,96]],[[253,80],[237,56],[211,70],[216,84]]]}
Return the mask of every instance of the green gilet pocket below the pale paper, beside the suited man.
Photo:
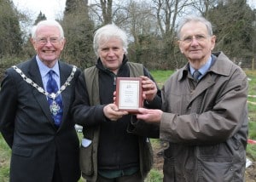
{"label": "green gilet pocket below the pale paper, beside the suited man", "polygon": [[92,144],[86,145],[85,147],[84,145],[80,146],[80,168],[82,173],[87,176],[90,176],[94,173],[92,150]]}

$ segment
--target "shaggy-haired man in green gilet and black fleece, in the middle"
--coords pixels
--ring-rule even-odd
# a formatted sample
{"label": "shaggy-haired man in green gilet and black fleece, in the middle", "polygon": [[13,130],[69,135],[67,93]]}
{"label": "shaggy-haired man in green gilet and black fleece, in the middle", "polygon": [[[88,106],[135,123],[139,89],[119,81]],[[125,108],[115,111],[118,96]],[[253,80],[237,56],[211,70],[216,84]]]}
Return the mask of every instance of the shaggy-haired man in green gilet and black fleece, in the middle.
{"label": "shaggy-haired man in green gilet and black fleece, in the middle", "polygon": [[[127,132],[134,122],[113,104],[116,77],[141,77],[143,104],[160,108],[160,89],[141,64],[128,62],[127,36],[114,25],[96,31],[96,65],[84,70],[76,86],[73,117],[83,126],[80,167],[87,181],[143,182],[153,164],[149,139]],[[159,137],[159,128],[150,137]]]}

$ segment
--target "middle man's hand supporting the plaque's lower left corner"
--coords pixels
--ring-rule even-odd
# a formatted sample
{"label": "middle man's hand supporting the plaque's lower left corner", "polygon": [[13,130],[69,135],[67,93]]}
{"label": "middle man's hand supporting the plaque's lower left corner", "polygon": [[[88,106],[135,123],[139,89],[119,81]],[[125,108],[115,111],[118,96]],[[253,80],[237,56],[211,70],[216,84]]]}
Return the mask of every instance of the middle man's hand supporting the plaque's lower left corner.
{"label": "middle man's hand supporting the plaque's lower left corner", "polygon": [[103,108],[105,117],[108,117],[111,121],[117,121],[119,118],[128,114],[127,111],[119,111],[119,108],[115,104],[106,105]]}

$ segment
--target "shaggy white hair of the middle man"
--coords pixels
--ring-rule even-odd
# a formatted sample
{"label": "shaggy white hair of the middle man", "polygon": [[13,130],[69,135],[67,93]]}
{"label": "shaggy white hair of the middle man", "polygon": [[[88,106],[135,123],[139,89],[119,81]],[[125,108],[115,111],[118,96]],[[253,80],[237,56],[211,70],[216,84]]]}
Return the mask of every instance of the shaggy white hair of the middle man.
{"label": "shaggy white hair of the middle man", "polygon": [[99,56],[98,50],[101,41],[104,39],[108,40],[109,38],[113,37],[121,40],[125,54],[127,54],[128,40],[125,31],[121,30],[118,26],[115,26],[114,24],[108,24],[99,28],[94,34],[93,48],[96,56]]}

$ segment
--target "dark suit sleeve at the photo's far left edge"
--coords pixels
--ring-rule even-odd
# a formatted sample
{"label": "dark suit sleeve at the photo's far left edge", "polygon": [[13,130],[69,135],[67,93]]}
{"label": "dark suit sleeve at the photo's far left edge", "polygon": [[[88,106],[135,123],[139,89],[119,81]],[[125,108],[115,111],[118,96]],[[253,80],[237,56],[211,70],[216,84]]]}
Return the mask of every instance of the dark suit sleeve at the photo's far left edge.
{"label": "dark suit sleeve at the photo's far left edge", "polygon": [[5,72],[0,90],[0,131],[11,148],[15,132],[15,115],[17,110],[17,93],[15,81],[9,71]]}

